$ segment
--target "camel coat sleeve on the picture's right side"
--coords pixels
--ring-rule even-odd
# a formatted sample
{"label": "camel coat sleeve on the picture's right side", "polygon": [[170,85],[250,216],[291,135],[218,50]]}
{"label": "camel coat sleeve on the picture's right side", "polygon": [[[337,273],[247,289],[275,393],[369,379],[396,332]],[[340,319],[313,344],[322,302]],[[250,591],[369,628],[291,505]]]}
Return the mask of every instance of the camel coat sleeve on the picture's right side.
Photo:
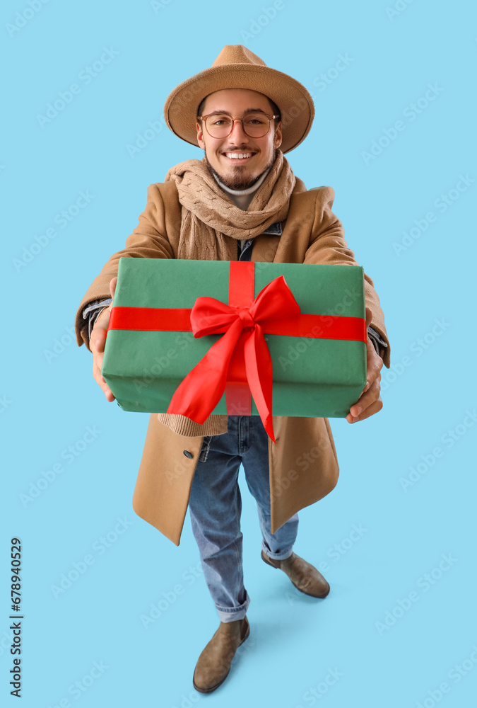
{"label": "camel coat sleeve on the picture's right side", "polygon": [[[311,191],[311,190],[310,190]],[[315,190],[313,190],[315,191]],[[359,265],[355,255],[344,239],[344,229],[341,221],[331,211],[334,202],[334,189],[319,187],[316,190],[314,222],[310,242],[305,254],[304,263],[320,263],[329,265]],[[372,311],[371,326],[375,329],[387,347],[382,347],[379,355],[384,365],[389,368],[390,347],[384,325],[384,314],[379,304],[375,284],[369,275],[365,274],[366,306]]]}

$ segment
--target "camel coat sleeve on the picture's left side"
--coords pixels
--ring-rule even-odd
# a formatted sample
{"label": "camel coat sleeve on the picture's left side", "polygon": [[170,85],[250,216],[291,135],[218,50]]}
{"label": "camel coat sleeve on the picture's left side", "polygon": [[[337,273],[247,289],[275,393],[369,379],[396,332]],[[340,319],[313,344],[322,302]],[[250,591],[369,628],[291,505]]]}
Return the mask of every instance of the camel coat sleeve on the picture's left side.
{"label": "camel coat sleeve on the picture's left side", "polygon": [[150,185],[146,208],[139,217],[139,224],[127,237],[124,249],[113,253],[81,300],[75,319],[78,346],[85,343],[90,349],[88,317],[83,318],[83,310],[95,300],[110,297],[110,280],[117,275],[119,258],[175,258],[174,246],[179,229],[180,206],[175,183]]}

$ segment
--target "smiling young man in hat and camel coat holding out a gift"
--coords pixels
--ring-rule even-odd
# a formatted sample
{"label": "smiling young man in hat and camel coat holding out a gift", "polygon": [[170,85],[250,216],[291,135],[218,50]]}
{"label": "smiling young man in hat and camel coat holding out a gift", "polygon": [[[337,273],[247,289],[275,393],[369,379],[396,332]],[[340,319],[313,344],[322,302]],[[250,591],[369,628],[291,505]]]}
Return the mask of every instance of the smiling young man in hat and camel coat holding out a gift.
{"label": "smiling young man in hat and camel coat holding out a gift", "polygon": [[[121,256],[356,265],[331,212],[334,191],[306,190],[283,156],[305,139],[313,117],[305,87],[241,45],[224,47],[213,67],[172,91],[165,103],[167,125],[204,149],[204,159],[176,165],[164,183],[149,187],[139,226],[90,286],[76,316],[78,345],[84,341],[92,351],[93,375],[108,401],[114,396],[101,365]],[[365,294],[367,384],[347,416],[350,423],[382,408],[383,360],[389,366],[384,317],[367,276]],[[298,510],[323,498],[338,479],[329,423],[274,416],[273,428],[275,443],[258,416],[212,415],[199,425],[183,416],[151,414],[134,510],[178,545],[189,506],[220,618],[194,671],[200,692],[223,683],[249,636],[237,485],[241,462],[257,501],[262,559],[303,593],[329,593],[321,573],[293,552]]]}

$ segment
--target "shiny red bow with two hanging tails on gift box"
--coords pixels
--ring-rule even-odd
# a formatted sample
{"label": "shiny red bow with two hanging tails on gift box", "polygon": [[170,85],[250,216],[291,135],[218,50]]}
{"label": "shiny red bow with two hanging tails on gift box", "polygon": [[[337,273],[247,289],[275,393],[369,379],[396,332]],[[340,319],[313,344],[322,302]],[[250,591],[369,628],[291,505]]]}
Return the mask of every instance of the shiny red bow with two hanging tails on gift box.
{"label": "shiny red bow with two hanging tails on gift box", "polygon": [[194,337],[224,335],[179,384],[167,413],[204,423],[223,396],[232,354],[237,345],[243,346],[249,389],[264,428],[275,442],[271,418],[273,373],[263,327],[266,321],[290,319],[299,314],[300,306],[283,275],[269,282],[249,307],[230,307],[214,297],[198,297],[191,312]]}

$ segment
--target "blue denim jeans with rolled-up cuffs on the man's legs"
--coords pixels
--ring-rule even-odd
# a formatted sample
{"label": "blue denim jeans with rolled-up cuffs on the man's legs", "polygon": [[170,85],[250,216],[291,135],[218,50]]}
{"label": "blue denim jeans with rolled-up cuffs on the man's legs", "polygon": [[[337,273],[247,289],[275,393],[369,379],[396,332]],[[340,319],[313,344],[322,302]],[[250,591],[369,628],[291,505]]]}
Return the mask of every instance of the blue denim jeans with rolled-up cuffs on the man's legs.
{"label": "blue denim jeans with rolled-up cuffs on the man's legs", "polygon": [[245,617],[250,603],[242,569],[240,463],[257,501],[266,554],[288,558],[298,532],[295,514],[271,533],[269,438],[259,416],[229,416],[227,433],[204,438],[189,499],[204,577],[222,622]]}

